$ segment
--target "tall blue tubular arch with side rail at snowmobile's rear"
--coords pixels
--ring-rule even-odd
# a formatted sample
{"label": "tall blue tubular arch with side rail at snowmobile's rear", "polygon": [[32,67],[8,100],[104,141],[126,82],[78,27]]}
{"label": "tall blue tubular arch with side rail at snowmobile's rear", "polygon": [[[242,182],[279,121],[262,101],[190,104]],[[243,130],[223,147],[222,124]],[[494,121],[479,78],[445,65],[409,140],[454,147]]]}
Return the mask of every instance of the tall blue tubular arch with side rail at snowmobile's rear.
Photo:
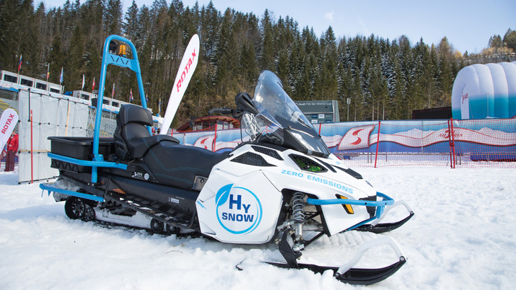
{"label": "tall blue tubular arch with side rail at snowmobile's rear", "polygon": [[[109,52],[109,44],[113,40],[118,40],[120,42],[125,42],[125,44],[129,45],[131,49],[131,53],[133,54],[133,59],[128,59],[127,57],[123,57],[116,54],[111,54]],[[143,82],[142,82],[142,73],[140,70],[140,62],[138,62],[138,54],[136,53],[136,48],[130,40],[118,36],[118,35],[109,35],[104,42],[103,54],[102,54],[102,68],[101,68],[101,79],[99,83],[99,95],[96,103],[96,116],[95,116],[95,127],[94,127],[94,136],[93,136],[93,161],[85,161],[77,158],[70,158],[62,155],[58,155],[55,153],[48,153],[48,156],[53,159],[57,159],[59,161],[65,161],[68,163],[77,164],[80,166],[91,166],[91,182],[97,182],[97,170],[99,167],[108,167],[108,168],[120,168],[127,169],[127,165],[115,162],[104,161],[102,154],[99,154],[99,138],[100,138],[100,126],[101,126],[101,117],[102,117],[102,105],[103,105],[103,95],[104,88],[106,87],[106,70],[109,64],[114,64],[116,66],[127,67],[136,73],[136,79],[138,80],[138,90],[140,91],[140,99],[142,101],[142,108],[147,109],[147,101],[145,100],[145,93],[143,91]],[[147,127],[149,132],[151,132],[151,128]]]}

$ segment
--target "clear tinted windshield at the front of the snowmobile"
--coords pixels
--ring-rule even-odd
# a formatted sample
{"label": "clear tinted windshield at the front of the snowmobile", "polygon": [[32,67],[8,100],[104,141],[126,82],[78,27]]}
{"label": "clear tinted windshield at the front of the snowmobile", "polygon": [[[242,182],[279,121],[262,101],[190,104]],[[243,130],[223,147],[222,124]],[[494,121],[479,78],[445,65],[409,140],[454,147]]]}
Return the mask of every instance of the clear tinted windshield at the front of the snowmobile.
{"label": "clear tinted windshield at the front of the snowmobile", "polygon": [[298,106],[284,91],[280,79],[271,71],[260,74],[254,90],[253,103],[259,114],[254,122],[260,133],[257,138],[268,139],[286,147],[319,156],[329,154],[327,147]]}

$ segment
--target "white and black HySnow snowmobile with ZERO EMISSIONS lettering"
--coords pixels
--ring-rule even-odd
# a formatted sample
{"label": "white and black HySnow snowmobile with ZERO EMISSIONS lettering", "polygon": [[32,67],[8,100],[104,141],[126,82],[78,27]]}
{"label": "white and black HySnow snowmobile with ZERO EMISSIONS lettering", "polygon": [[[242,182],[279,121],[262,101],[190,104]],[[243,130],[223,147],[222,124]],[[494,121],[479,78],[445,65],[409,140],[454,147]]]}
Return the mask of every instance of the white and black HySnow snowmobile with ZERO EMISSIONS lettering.
{"label": "white and black HySnow snowmobile with ZERO EMISSIONS lettering", "polygon": [[[212,112],[240,118],[249,138],[223,153],[152,136],[150,111],[123,105],[113,138],[50,137],[48,156],[60,175],[40,187],[64,201],[70,219],[140,223],[156,233],[194,232],[223,243],[276,243],[285,262],[269,264],[330,269],[349,284],[374,284],[403,266],[398,244],[386,237],[365,243],[341,267],[298,262],[321,236],[391,231],[413,211],[376,192],[330,153],[271,71],[260,74],[254,98],[239,93],[235,105]],[[380,223],[398,206],[409,211],[405,219]],[[378,269],[352,268],[376,245],[389,245],[398,260]]]}

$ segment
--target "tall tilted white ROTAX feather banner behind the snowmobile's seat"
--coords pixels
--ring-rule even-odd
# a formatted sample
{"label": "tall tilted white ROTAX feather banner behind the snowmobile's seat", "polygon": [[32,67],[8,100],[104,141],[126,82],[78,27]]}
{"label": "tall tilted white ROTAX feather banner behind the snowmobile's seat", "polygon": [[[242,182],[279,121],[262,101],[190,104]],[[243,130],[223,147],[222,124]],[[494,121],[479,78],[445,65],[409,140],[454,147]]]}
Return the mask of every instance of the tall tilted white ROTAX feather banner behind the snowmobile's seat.
{"label": "tall tilted white ROTAX feather banner behind the snowmobile's seat", "polygon": [[172,120],[174,120],[179,103],[181,103],[191,76],[194,74],[197,67],[198,54],[199,37],[198,35],[194,35],[191,37],[191,40],[184,51],[183,59],[181,59],[181,64],[177,70],[174,88],[172,88],[172,92],[170,93],[169,104],[167,105],[161,132],[159,134],[167,134],[169,131],[170,124],[172,124]]}

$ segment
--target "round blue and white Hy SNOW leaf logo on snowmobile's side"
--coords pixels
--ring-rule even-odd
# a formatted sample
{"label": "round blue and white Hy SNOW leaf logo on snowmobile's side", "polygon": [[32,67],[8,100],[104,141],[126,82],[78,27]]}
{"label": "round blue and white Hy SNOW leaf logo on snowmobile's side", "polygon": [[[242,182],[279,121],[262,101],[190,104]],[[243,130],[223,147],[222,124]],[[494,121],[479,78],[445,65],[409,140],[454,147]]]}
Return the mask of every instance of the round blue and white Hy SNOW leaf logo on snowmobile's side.
{"label": "round blue and white Hy SNOW leaf logo on snowmobile's side", "polygon": [[232,184],[220,187],[215,205],[220,226],[230,233],[250,233],[262,221],[262,204],[247,188]]}

